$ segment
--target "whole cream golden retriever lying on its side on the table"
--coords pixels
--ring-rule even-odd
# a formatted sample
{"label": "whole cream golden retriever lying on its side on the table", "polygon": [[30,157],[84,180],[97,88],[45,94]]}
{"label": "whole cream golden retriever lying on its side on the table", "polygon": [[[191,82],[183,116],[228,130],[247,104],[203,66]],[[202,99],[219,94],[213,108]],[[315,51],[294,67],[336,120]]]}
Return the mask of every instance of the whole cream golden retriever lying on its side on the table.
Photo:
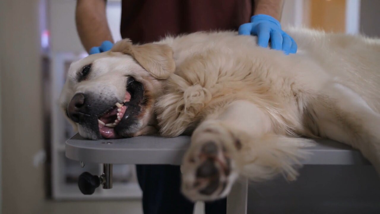
{"label": "whole cream golden retriever lying on its side on the table", "polygon": [[70,66],[60,99],[90,139],[191,134],[182,192],[228,194],[238,176],[297,176],[309,140],[359,149],[380,172],[380,40],[288,29],[298,53],[237,32],[197,32],[111,51]]}

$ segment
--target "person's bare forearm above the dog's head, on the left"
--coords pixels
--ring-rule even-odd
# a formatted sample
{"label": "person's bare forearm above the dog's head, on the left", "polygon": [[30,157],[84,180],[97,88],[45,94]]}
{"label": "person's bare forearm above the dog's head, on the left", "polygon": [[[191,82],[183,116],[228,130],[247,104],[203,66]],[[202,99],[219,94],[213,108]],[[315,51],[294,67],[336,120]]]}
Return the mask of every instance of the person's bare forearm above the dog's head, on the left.
{"label": "person's bare forearm above the dog's head, on the left", "polygon": [[75,22],[79,38],[87,52],[105,40],[113,42],[107,23],[105,0],[78,0]]}

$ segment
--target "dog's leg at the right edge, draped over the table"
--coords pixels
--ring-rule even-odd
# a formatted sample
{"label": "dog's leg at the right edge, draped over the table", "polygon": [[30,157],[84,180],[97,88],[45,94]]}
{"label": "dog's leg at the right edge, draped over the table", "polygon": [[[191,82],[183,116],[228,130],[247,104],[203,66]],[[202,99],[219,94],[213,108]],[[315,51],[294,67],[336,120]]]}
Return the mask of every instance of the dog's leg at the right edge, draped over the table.
{"label": "dog's leg at the right edge, draped over the table", "polygon": [[380,173],[380,115],[366,101],[351,89],[332,83],[307,109],[317,124],[317,135],[359,149]]}

